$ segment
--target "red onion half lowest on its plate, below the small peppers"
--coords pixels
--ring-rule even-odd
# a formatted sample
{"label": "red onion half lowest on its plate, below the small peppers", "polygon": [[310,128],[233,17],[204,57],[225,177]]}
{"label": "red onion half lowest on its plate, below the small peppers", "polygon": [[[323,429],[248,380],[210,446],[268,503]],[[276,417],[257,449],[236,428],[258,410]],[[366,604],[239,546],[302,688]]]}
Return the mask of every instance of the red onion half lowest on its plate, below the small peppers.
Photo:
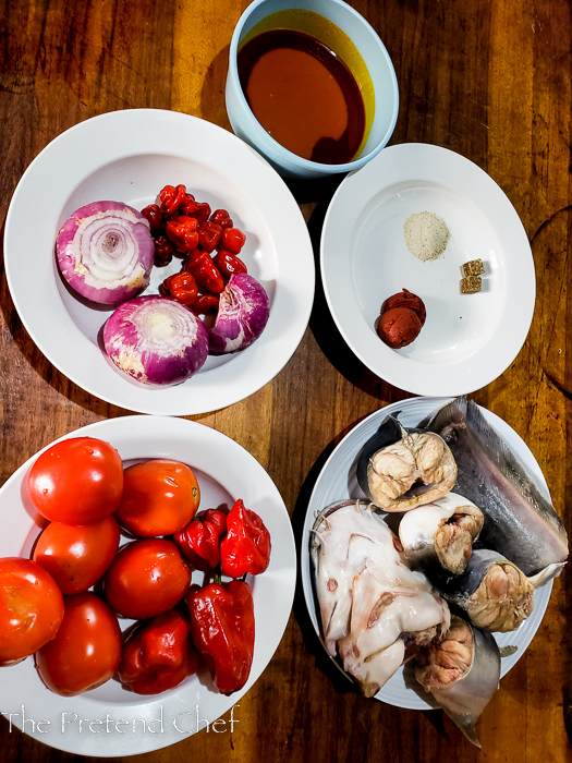
{"label": "red onion half lowest on its plate, below the small peppers", "polygon": [[118,368],[143,384],[180,384],[208,355],[208,332],[202,320],[168,296],[123,302],[104,326],[104,343]]}

